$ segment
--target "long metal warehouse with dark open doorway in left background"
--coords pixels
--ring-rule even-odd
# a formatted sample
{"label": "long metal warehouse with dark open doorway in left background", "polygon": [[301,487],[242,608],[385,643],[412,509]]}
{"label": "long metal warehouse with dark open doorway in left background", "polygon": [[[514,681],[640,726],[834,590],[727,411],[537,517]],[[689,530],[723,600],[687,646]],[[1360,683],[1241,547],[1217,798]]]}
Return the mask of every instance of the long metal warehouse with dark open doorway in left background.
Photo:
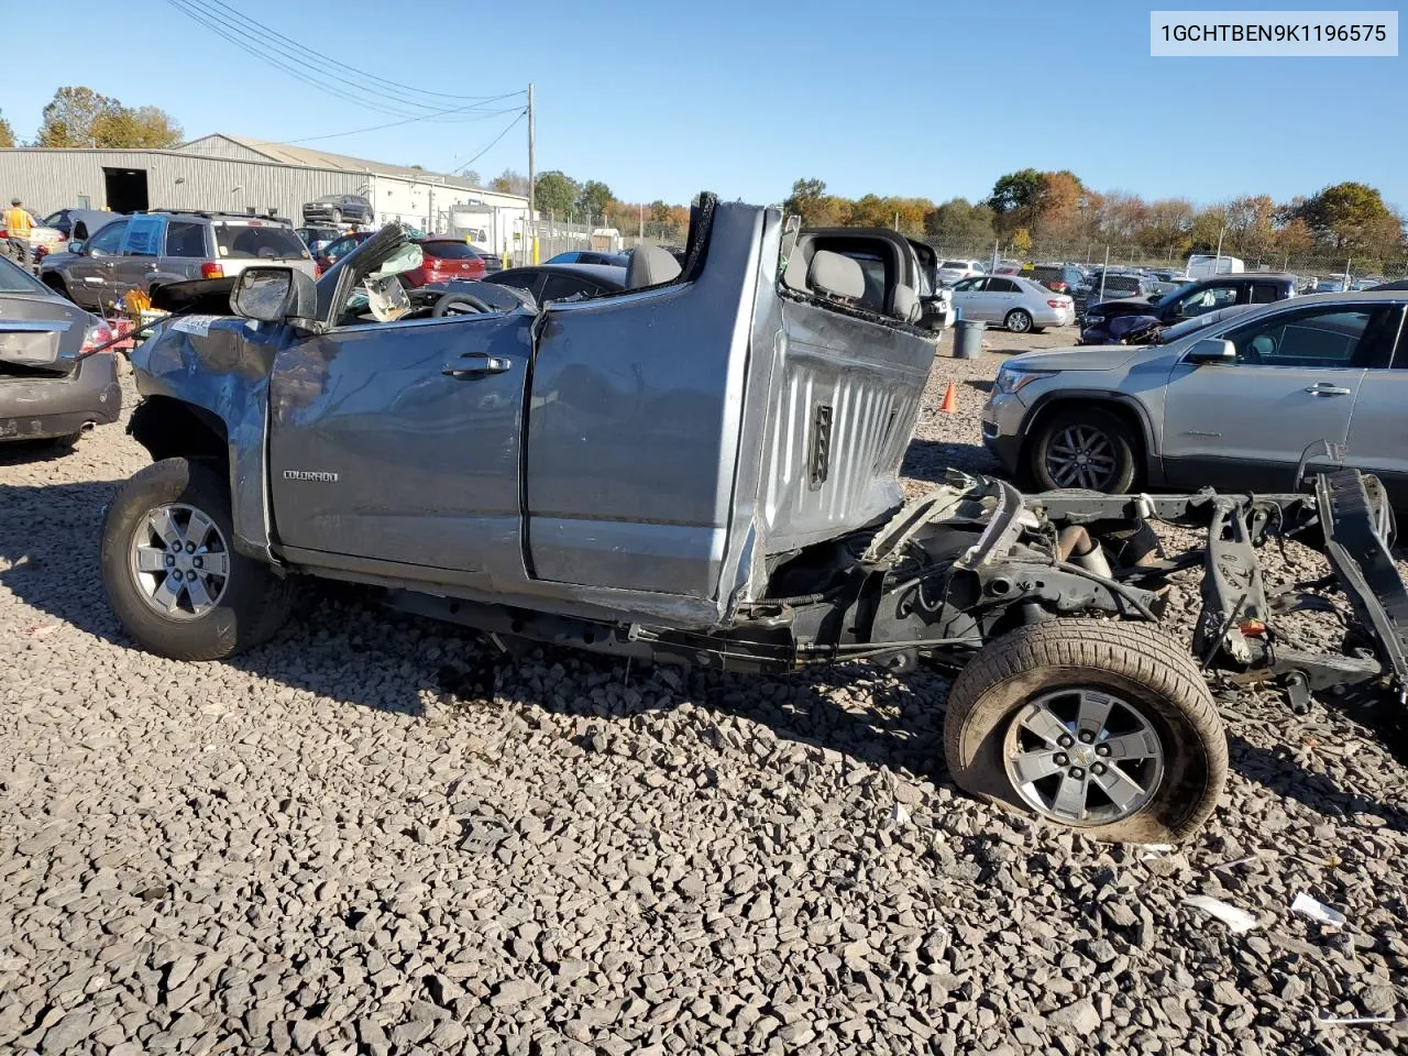
{"label": "long metal warehouse with dark open doorway in left background", "polygon": [[[35,215],[63,207],[275,213],[296,224],[303,203],[362,194],[379,221],[422,231],[486,227],[496,249],[525,245],[528,200],[458,176],[217,132],[170,151],[0,149],[0,197]],[[474,239],[480,241],[480,239]]]}

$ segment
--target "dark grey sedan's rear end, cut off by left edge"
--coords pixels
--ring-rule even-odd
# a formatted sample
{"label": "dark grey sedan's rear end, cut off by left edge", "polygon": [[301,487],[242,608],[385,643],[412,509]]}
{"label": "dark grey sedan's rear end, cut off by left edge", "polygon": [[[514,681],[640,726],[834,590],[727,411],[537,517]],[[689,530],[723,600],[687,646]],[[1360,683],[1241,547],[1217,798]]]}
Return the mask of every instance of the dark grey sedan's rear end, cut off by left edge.
{"label": "dark grey sedan's rear end, cut off by left edge", "polygon": [[117,421],[122,390],[107,324],[0,260],[0,441],[72,445]]}

